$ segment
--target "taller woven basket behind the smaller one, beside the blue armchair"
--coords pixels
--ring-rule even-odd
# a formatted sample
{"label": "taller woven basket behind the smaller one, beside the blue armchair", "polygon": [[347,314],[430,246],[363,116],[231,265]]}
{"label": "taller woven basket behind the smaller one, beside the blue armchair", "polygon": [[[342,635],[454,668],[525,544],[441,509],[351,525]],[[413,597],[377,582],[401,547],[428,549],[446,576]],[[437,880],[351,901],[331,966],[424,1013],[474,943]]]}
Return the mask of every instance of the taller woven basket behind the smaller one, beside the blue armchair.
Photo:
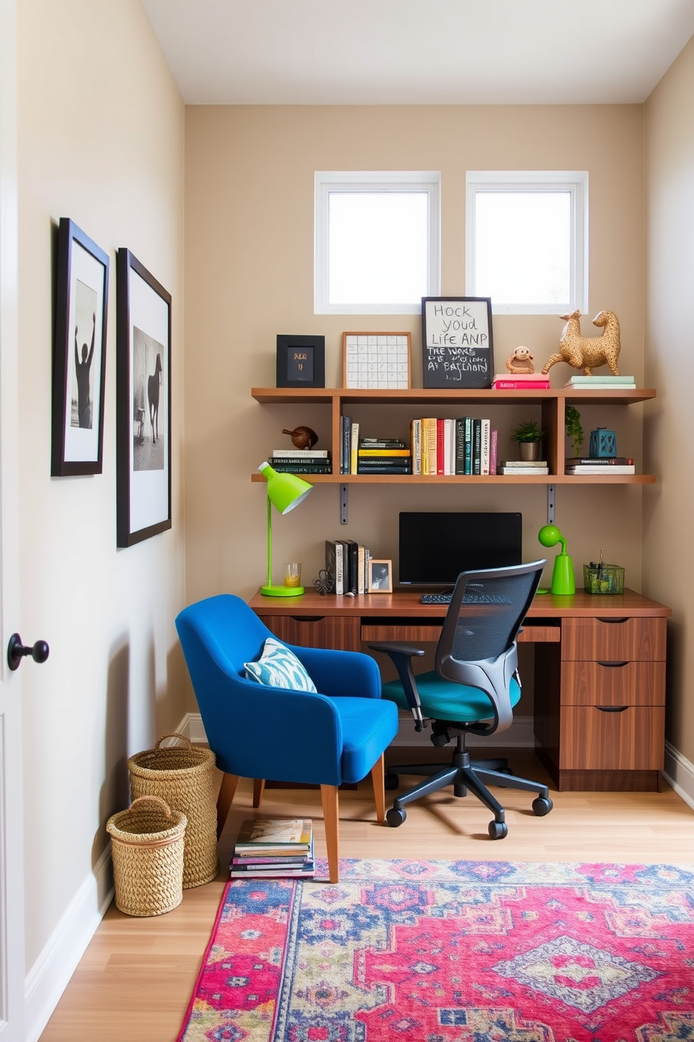
{"label": "taller woven basket behind the smaller one, beside the blue armchair", "polygon": [[[161,748],[165,738],[185,745]],[[211,749],[184,735],[162,735],[153,749],[128,761],[132,798],[160,796],[188,819],[183,853],[183,889],[209,883],[220,871],[216,855],[216,796],[220,788]]]}

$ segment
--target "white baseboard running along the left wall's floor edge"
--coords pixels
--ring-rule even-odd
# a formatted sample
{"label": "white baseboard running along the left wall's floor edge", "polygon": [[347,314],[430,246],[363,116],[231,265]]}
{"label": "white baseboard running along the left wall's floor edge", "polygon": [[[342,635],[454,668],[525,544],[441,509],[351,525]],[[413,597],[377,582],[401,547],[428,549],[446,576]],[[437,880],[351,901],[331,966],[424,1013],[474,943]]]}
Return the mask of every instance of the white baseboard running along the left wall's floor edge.
{"label": "white baseboard running along the left wall's floor edge", "polygon": [[24,984],[27,1042],[37,1042],[113,899],[110,845],[68,905]]}

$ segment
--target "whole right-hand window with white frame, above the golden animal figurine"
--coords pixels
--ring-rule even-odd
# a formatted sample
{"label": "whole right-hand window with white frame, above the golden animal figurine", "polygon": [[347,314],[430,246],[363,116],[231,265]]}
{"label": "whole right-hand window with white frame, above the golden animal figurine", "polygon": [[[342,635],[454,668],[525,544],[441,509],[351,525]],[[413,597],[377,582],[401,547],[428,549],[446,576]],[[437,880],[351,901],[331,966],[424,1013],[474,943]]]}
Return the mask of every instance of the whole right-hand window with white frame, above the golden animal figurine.
{"label": "whole right-hand window with white frame, above the golden animal figurine", "polygon": [[588,173],[468,171],[466,272],[496,314],[588,311]]}

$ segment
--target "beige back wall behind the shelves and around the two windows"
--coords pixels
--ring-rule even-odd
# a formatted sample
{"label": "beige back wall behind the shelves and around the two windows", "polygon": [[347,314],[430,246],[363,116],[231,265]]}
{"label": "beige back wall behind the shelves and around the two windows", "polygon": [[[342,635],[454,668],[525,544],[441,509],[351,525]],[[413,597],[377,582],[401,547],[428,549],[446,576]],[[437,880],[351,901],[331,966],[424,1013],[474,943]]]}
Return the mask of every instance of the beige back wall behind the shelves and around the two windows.
{"label": "beige back wall behind the shelves and around the two windows", "polygon": [[[468,169],[579,169],[590,175],[590,319],[603,307],[622,327],[620,369],[643,375],[643,108],[642,106],[192,107],[186,108],[186,598],[219,591],[242,596],[264,577],[264,489],[251,472],[282,427],[308,423],[329,438],[327,411],[259,405],[252,386],[275,384],[276,334],[325,333],[326,380],[341,383],[344,329],[410,329],[415,386],[421,386],[417,316],[377,318],[313,314],[313,173],[315,170],[441,171],[442,283],[465,292],[465,172]],[[536,367],[557,349],[558,317],[494,318],[495,368],[518,344]],[[561,384],[572,371],[551,371]],[[512,420],[495,414],[506,440]],[[641,463],[641,406],[586,408],[589,432],[618,432],[621,451]],[[355,418],[359,411],[354,410]],[[407,430],[411,414],[383,411],[370,433]],[[439,414],[442,415],[442,414]],[[395,418],[393,418],[395,417]],[[366,432],[366,431],[365,431]],[[641,588],[641,497],[635,487],[590,487],[557,493],[557,523],[581,566],[605,550]],[[352,487],[349,524],[340,528],[338,489],[316,486],[310,498],[274,523],[275,561],[301,559],[310,582],[323,565],[324,541],[344,536],[378,556],[395,557],[397,512],[519,510],[526,560],[541,556],[537,531],[546,520],[544,488],[383,489]],[[548,556],[554,561],[555,551]]]}

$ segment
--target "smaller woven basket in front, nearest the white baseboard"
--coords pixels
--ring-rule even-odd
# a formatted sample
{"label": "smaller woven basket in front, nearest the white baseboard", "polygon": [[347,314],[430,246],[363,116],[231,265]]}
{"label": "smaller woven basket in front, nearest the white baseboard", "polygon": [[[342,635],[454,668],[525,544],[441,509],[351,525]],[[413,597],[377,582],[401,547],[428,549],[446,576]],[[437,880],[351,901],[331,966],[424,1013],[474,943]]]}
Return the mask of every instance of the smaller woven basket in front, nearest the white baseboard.
{"label": "smaller woven basket in front, nearest the white baseboard", "polygon": [[115,907],[126,915],[162,915],[183,900],[185,815],[158,796],[142,796],[106,822]]}

